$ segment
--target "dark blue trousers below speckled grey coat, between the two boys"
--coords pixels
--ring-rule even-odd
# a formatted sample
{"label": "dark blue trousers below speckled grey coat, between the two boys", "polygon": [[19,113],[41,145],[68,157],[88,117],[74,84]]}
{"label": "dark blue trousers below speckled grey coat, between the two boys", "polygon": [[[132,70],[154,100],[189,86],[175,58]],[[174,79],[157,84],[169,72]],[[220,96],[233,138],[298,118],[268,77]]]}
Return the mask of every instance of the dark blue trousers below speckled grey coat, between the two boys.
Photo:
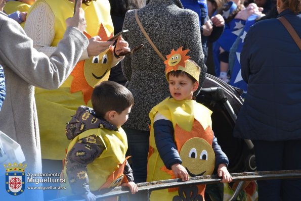
{"label": "dark blue trousers below speckled grey coat, between the two boys", "polygon": [[146,182],[149,131],[123,128],[127,136],[135,183]]}

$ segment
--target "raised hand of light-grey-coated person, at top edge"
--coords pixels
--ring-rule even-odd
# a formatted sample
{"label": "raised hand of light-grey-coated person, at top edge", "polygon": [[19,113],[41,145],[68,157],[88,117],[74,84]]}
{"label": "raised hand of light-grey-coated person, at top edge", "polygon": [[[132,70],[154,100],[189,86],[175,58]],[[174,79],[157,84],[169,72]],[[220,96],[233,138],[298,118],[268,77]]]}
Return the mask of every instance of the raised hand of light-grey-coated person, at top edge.
{"label": "raised hand of light-grey-coated person, at top edge", "polygon": [[72,18],[68,18],[66,20],[67,26],[73,26],[77,28],[79,31],[83,32],[85,28],[87,27],[87,24],[85,22],[84,18],[84,11],[81,8],[81,1],[77,1],[75,14]]}

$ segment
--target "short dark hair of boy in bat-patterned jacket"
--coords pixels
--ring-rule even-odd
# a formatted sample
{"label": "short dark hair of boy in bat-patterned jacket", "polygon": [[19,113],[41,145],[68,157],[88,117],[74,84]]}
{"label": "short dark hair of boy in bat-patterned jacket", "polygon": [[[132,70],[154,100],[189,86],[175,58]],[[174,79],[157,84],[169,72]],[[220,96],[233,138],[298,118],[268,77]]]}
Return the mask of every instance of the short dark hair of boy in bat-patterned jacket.
{"label": "short dark hair of boy in bat-patterned jacket", "polygon": [[134,97],[125,86],[113,81],[103,81],[92,92],[92,106],[98,117],[105,117],[108,111],[122,113],[134,104]]}

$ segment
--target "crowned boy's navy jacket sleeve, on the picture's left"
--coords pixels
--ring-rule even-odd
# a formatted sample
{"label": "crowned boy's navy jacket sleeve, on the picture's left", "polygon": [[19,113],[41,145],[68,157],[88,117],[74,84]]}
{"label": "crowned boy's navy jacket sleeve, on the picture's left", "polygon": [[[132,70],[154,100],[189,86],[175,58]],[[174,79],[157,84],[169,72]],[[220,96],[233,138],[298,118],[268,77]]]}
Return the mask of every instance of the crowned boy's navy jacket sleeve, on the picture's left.
{"label": "crowned boy's navy jacket sleeve, on the picture's left", "polygon": [[167,169],[174,164],[182,164],[177,146],[174,141],[173,123],[168,120],[154,122],[154,136],[159,155]]}

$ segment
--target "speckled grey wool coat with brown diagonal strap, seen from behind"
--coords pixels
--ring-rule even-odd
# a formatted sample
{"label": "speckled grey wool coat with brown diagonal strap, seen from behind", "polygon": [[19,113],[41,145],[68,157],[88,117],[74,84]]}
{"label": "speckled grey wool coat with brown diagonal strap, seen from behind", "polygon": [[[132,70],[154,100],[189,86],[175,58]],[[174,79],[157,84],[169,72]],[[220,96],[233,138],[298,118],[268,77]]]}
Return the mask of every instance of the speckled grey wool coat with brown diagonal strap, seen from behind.
{"label": "speckled grey wool coat with brown diagonal strap, seen from behind", "polygon": [[[190,49],[187,55],[201,67],[201,87],[207,67],[202,52],[198,15],[183,9],[179,0],[150,0],[144,8],[138,10],[138,17],[164,57],[172,49],[176,51],[181,46],[183,49]],[[150,110],[170,95],[164,73],[165,65],[140,30],[135,19],[135,10],[126,13],[123,29],[129,30],[122,36],[131,48],[144,43],[142,49],[126,56],[121,63],[123,73],[130,81],[128,89],[135,98],[135,104],[124,126],[148,130]]]}

